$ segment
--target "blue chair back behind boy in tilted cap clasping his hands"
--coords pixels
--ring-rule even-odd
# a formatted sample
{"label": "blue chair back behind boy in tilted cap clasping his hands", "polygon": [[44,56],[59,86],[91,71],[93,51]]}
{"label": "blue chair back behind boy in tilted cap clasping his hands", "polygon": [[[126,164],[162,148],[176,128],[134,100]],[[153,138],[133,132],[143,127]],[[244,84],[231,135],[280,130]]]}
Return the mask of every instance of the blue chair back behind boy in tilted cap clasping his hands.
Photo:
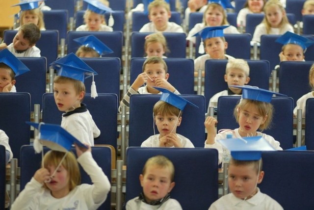
{"label": "blue chair back behind boy in tilted cap clasping his hands", "polygon": [[[190,105],[185,106],[177,133],[190,139],[194,147],[204,147],[205,97],[201,95],[182,95],[182,97],[199,108]],[[159,99],[160,95],[157,94],[131,95],[129,146],[141,146],[143,141],[154,135],[153,107]],[[155,132],[158,134],[156,126]]]}

